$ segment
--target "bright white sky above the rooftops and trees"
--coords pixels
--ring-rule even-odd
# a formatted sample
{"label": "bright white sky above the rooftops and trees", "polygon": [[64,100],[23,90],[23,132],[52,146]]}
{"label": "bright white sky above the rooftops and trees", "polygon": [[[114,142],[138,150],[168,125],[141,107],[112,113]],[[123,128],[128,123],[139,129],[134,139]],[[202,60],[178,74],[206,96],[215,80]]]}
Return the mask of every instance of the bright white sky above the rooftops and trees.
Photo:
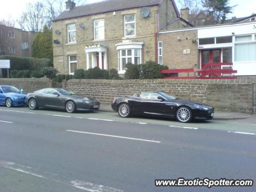
{"label": "bright white sky above the rooftops and trees", "polygon": [[[26,10],[26,3],[37,2],[38,0],[0,0],[0,19],[12,18],[14,20],[18,19],[23,11]],[[42,1],[42,0],[39,0]],[[100,0],[88,0],[89,3],[98,2]],[[175,1],[177,6],[178,0]],[[250,16],[252,13],[256,13],[256,0],[230,0],[230,5],[238,5],[234,8],[232,16],[245,17]]]}

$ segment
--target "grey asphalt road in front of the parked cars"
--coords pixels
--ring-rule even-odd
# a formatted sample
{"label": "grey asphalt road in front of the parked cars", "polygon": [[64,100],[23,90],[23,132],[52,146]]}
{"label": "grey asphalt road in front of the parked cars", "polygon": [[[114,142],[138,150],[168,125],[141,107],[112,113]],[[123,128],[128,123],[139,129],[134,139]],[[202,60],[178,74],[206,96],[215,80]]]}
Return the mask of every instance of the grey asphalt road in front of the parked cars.
{"label": "grey asphalt road in front of the parked cars", "polygon": [[181,124],[115,113],[0,107],[0,192],[242,192],[155,179],[256,180],[252,122]]}

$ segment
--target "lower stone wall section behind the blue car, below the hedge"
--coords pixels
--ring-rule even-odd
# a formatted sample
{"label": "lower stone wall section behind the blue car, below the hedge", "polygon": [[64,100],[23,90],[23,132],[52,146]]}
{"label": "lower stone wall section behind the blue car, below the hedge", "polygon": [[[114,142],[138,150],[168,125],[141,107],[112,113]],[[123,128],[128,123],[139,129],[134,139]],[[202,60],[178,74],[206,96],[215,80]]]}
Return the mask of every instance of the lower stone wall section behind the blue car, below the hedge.
{"label": "lower stone wall section behind the blue car, below the hedge", "polygon": [[39,89],[51,87],[52,81],[47,78],[0,78],[0,85],[11,85],[18,89],[22,88],[24,92],[28,93]]}

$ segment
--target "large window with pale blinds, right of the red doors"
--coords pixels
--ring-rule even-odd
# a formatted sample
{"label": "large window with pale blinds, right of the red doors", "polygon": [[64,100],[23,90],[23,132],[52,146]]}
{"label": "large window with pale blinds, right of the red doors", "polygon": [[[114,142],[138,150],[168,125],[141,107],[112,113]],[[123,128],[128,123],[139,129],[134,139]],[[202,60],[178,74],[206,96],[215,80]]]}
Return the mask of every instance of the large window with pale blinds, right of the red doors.
{"label": "large window with pale blinds, right of the red doors", "polygon": [[255,35],[235,37],[235,62],[256,61],[256,38]]}

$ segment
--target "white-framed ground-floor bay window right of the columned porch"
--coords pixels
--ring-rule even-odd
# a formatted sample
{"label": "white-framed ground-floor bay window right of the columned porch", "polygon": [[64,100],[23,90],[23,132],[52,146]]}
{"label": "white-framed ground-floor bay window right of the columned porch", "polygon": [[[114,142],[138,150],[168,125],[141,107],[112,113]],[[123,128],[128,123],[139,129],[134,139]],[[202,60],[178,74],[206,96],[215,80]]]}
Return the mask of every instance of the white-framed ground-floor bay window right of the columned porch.
{"label": "white-framed ground-floor bay window right of the columned porch", "polygon": [[126,70],[126,64],[141,64],[142,57],[141,57],[142,49],[122,49],[118,50],[118,71],[119,74],[124,74]]}

